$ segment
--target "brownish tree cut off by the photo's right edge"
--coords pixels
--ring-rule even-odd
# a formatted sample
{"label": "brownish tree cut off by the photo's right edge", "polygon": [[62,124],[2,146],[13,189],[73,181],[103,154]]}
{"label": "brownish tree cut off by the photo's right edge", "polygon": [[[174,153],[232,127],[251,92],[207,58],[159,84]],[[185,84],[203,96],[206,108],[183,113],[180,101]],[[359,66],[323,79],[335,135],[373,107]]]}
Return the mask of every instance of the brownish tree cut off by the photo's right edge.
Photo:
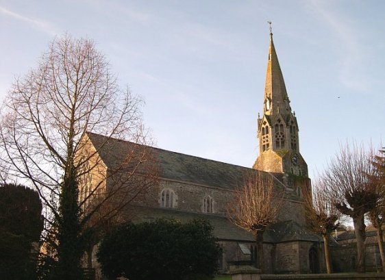
{"label": "brownish tree cut off by the photo's right edge", "polygon": [[379,185],[377,193],[379,194],[380,199],[377,201],[377,206],[371,209],[368,216],[377,232],[377,243],[378,248],[380,249],[382,270],[384,270],[385,253],[382,225],[384,225],[385,219],[385,148],[380,150],[380,155],[375,155],[371,163],[375,170],[377,170],[377,174],[375,174],[375,177],[371,177],[371,180],[373,180],[373,184],[378,183]]}

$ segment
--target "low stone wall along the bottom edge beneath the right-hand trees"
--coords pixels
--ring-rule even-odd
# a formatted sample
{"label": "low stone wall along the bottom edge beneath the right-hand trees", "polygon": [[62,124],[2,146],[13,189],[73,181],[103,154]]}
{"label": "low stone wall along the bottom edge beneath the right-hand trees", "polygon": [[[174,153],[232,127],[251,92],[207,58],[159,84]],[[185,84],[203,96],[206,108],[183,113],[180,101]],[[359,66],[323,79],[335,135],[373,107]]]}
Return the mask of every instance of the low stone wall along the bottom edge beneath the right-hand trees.
{"label": "low stone wall along the bottom edge beneath the right-hand trees", "polygon": [[260,275],[261,280],[380,280],[385,279],[385,273],[333,273],[327,274],[297,274],[297,275]]}

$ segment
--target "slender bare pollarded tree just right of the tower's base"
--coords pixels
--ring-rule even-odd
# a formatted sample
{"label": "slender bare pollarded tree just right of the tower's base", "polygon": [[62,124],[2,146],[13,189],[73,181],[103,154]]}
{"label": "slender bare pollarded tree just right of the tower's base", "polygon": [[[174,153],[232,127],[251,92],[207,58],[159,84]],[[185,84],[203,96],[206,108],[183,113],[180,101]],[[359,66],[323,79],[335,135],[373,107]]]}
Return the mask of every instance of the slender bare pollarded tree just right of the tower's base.
{"label": "slender bare pollarded tree just right of the tower's base", "polygon": [[327,273],[332,273],[330,259],[329,240],[332,231],[340,225],[341,213],[333,203],[332,190],[325,184],[322,178],[316,179],[312,186],[312,192],[304,190],[307,223],[310,230],[321,234]]}

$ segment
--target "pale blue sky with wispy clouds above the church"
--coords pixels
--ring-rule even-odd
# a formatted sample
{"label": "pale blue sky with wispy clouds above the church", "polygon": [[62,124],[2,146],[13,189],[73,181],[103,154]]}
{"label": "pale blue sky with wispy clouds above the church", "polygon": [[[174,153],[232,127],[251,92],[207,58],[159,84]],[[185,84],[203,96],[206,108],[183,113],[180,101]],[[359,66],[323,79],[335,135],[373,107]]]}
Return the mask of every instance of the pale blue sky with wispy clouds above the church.
{"label": "pale blue sky with wispy clouds above the church", "polygon": [[[91,38],[156,146],[251,167],[269,25],[310,177],[385,142],[385,1],[0,0],[0,99],[56,36]],[[384,146],[384,144],[382,144]]]}

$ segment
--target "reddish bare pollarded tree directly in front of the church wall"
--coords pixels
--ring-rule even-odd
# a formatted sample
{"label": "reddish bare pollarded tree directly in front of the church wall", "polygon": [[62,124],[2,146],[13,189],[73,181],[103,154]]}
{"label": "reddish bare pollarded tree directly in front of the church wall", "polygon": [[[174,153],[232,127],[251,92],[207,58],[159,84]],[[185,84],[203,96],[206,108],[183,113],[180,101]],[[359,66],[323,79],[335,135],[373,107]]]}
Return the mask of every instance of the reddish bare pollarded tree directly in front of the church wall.
{"label": "reddish bare pollarded tree directly in front of the church wall", "polygon": [[256,236],[256,266],[263,270],[263,234],[275,221],[282,205],[282,192],[275,190],[268,173],[250,173],[242,186],[238,186],[234,199],[229,202],[227,212],[235,225],[251,231]]}

